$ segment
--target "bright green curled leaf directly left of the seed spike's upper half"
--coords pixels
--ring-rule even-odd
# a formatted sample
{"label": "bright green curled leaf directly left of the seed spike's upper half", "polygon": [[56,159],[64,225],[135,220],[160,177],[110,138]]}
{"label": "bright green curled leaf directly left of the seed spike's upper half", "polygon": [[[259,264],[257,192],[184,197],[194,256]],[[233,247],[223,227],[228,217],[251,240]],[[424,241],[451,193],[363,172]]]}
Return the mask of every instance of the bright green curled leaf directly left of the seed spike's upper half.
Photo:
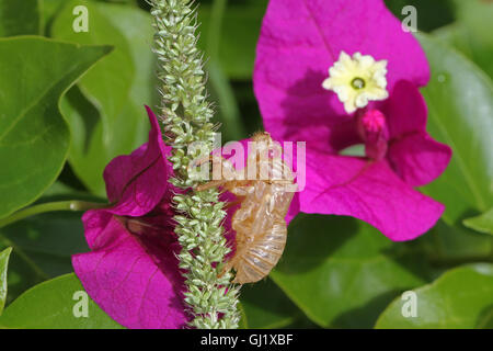
{"label": "bright green curled leaf directly left of the seed spike's upper half", "polygon": [[[74,33],[71,27],[72,9],[78,4],[88,7],[88,33]],[[115,47],[67,94],[61,106],[73,135],[70,165],[88,189],[104,195],[106,165],[147,138],[144,105],[153,105],[156,87],[151,19],[134,7],[69,1],[55,19],[51,33],[71,42]]]}

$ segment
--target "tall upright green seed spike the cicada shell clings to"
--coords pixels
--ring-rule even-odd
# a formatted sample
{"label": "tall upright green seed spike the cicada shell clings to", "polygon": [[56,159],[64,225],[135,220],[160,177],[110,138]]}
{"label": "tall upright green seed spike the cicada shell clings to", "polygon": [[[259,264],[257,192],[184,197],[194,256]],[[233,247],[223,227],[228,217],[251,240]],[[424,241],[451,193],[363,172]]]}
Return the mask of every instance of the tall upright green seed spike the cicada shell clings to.
{"label": "tall upright green seed spike the cicada shell clings to", "polygon": [[[174,231],[182,246],[180,268],[185,271],[184,302],[192,317],[191,327],[200,329],[238,328],[239,287],[231,274],[218,276],[227,247],[221,226],[226,212],[217,189],[196,192],[200,181],[188,174],[188,165],[208,158],[215,126],[207,102],[202,53],[197,49],[196,12],[191,0],[151,0],[154,16],[154,53],[162,84],[161,116],[165,141],[172,146],[170,161],[174,178],[170,182],[184,190],[173,197],[177,215]],[[200,149],[193,146],[200,143]]]}

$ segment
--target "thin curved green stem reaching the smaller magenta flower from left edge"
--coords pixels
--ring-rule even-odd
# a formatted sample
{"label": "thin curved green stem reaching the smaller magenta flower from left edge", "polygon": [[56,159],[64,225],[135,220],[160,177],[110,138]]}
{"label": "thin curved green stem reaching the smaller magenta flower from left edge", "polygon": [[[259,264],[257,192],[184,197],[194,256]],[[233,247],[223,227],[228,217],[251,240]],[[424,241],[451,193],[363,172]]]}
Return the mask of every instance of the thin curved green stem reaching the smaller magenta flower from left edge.
{"label": "thin curved green stem reaching the smaller magenta flower from left edge", "polygon": [[107,206],[107,204],[92,203],[85,201],[70,200],[70,201],[57,201],[47,202],[39,205],[23,208],[13,213],[12,215],[0,219],[0,228],[5,227],[14,222],[24,219],[45,212],[54,211],[87,211],[90,208],[101,208]]}

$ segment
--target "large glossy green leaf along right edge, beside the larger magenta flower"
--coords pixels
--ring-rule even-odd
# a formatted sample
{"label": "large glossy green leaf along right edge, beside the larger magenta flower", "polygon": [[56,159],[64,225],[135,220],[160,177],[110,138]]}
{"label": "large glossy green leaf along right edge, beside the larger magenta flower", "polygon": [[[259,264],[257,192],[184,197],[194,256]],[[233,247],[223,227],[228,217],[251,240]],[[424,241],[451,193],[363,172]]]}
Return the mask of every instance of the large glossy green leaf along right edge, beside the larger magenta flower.
{"label": "large glossy green leaf along right edge, beside the larger magenta flower", "polygon": [[428,132],[454,150],[445,173],[424,188],[446,205],[446,212],[420,241],[436,261],[491,260],[493,239],[465,228],[462,220],[493,203],[492,83],[439,41],[424,35],[419,38],[432,68],[431,81],[423,89],[429,110]]}

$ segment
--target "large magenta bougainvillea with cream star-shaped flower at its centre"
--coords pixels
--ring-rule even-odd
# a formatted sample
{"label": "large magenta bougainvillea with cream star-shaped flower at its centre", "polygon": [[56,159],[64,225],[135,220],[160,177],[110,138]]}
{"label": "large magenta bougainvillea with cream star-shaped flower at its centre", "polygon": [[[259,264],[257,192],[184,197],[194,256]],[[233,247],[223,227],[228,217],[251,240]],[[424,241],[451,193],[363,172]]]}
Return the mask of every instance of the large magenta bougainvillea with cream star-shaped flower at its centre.
{"label": "large magenta bougainvillea with cream star-shaped flower at its centre", "polygon": [[[382,0],[271,0],[256,54],[265,129],[307,141],[300,211],[354,216],[395,241],[436,223],[444,206],[414,188],[442,174],[451,150],[425,129],[425,54]],[[347,80],[359,71],[372,81]],[[357,144],[365,157],[341,155]]]}

